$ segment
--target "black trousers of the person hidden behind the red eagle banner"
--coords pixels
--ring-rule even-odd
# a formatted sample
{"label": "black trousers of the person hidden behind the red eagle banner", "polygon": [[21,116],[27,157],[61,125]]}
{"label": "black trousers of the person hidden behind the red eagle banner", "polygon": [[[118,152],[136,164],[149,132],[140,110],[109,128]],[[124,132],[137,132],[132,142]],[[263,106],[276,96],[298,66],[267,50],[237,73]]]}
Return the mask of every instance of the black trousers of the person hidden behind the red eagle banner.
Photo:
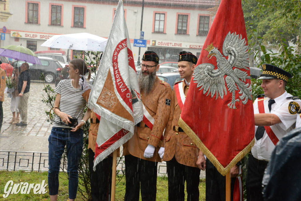
{"label": "black trousers of the person hidden behind the red eagle banner", "polygon": [[[231,178],[231,201],[233,201],[235,178]],[[226,177],[206,159],[206,201],[226,200]]]}

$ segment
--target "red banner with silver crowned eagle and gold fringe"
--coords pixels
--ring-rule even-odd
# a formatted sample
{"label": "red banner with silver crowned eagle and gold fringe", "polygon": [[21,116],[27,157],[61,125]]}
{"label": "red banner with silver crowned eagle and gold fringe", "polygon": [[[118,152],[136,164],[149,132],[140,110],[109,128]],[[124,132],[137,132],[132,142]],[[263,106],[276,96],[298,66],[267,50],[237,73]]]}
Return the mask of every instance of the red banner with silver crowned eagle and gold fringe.
{"label": "red banner with silver crowned eagle and gold fringe", "polygon": [[222,175],[226,175],[254,143],[248,59],[241,0],[222,0],[179,120],[179,126]]}

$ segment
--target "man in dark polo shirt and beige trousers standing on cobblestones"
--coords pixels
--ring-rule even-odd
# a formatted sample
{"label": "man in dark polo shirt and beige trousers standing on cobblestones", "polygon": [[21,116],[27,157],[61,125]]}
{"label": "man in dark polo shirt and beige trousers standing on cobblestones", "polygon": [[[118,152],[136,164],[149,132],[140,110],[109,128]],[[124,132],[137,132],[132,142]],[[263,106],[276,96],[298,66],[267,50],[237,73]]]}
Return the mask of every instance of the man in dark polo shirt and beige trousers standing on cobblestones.
{"label": "man in dark polo shirt and beige trousers standing on cobblestones", "polygon": [[23,63],[21,65],[21,73],[18,81],[18,92],[20,97],[18,109],[22,121],[20,123],[17,123],[17,126],[27,126],[27,102],[29,98],[30,88],[30,75],[28,68],[28,63]]}

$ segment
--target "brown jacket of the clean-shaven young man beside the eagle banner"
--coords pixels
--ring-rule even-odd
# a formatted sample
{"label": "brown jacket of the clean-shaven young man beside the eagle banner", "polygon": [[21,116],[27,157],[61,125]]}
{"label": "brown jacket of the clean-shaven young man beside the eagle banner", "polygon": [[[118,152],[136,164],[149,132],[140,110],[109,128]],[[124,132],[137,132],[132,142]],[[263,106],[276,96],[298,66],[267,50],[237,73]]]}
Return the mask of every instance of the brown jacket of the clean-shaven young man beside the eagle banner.
{"label": "brown jacket of the clean-shaven young man beside the eagle banner", "polygon": [[[181,82],[183,82],[183,91],[186,97],[189,86],[186,85],[185,81]],[[165,143],[165,150],[163,161],[170,161],[175,156],[178,163],[198,168],[197,156],[199,155],[199,149],[196,144],[186,133],[173,130],[174,126],[179,126],[180,115],[181,109],[178,105],[174,89],[172,92],[170,116],[164,133],[163,143]]]}

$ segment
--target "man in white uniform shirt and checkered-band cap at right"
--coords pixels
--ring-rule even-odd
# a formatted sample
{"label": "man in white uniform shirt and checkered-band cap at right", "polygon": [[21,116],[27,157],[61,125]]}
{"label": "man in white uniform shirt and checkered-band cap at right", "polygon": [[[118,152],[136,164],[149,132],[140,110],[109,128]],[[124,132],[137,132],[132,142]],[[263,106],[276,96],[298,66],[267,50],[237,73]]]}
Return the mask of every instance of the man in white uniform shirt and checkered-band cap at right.
{"label": "man in white uniform shirt and checkered-band cap at right", "polygon": [[276,143],[296,123],[301,101],[285,91],[292,75],[271,64],[262,64],[261,87],[254,107],[255,144],[247,162],[247,200],[263,200],[262,178]]}

